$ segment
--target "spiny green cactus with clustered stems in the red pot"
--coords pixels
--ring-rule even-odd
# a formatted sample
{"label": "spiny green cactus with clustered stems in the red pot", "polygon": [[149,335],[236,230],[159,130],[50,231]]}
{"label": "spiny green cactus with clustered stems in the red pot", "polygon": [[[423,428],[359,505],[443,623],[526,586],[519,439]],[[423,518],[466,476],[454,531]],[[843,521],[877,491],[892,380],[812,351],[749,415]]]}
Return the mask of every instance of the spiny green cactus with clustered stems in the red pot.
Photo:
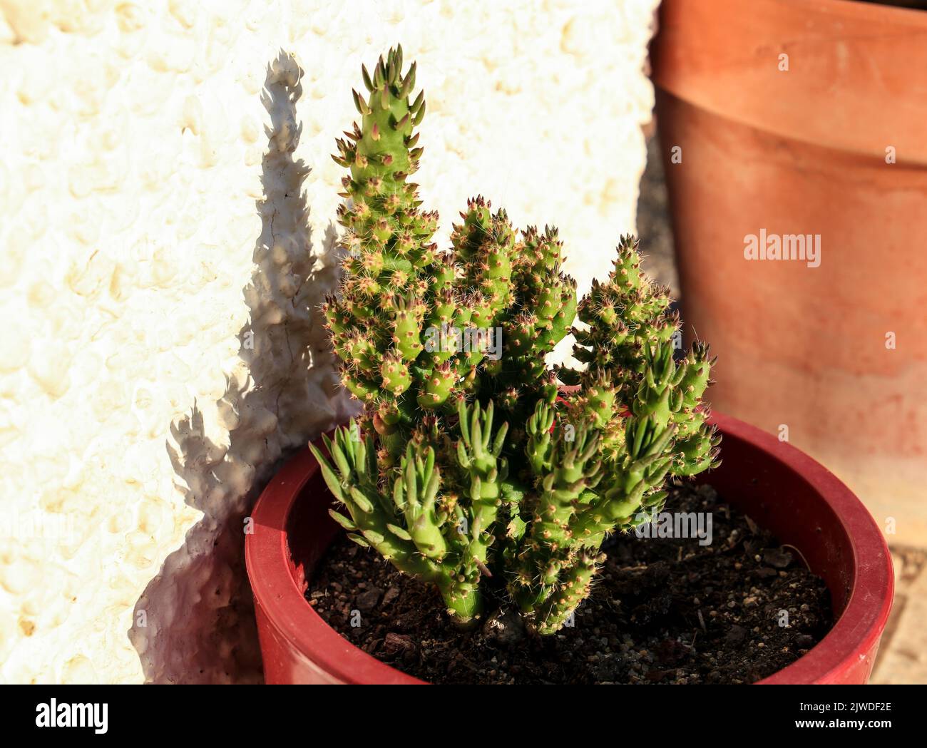
{"label": "spiny green cactus with clustered stems in the red pot", "polygon": [[[425,97],[402,67],[400,47],[362,68],[362,121],[333,157],[345,272],[324,311],[363,411],[312,449],[349,537],[433,583],[456,621],[508,603],[550,634],[603,540],[659,512],[671,476],[717,465],[712,361],[698,343],[674,360],[679,318],[630,236],[579,302],[557,231],[518,232],[482,197],[439,251],[410,181]],[[571,332],[585,367],[549,369]]]}

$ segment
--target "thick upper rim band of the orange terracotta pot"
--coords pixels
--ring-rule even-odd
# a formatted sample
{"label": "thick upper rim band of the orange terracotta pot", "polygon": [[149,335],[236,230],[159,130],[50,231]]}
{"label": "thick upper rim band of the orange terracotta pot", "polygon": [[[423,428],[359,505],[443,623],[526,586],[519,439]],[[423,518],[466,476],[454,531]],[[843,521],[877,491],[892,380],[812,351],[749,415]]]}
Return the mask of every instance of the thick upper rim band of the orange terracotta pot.
{"label": "thick upper rim band of the orange terracotta pot", "polygon": [[[927,164],[927,11],[854,0],[664,0],[654,84],[786,140]],[[777,68],[786,52],[790,68]]]}

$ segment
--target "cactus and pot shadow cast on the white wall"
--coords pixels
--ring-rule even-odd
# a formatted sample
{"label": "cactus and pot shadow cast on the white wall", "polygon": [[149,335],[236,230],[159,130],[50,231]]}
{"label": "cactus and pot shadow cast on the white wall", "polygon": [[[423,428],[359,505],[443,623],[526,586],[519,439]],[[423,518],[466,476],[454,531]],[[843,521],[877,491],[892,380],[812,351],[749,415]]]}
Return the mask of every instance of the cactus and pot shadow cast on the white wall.
{"label": "cactus and pot shadow cast on the white wall", "polygon": [[[171,424],[176,485],[203,517],[135,604],[129,638],[149,682],[261,681],[244,520],[279,463],[349,408],[319,311],[337,285],[336,231],[329,224],[313,254],[302,192],[310,170],[293,158],[302,72],[283,52],[267,69],[262,103],[272,125],[257,202],[262,229],[244,289],[250,320],[217,403],[218,427],[206,428],[196,404]],[[227,446],[208,431],[227,433]]]}

